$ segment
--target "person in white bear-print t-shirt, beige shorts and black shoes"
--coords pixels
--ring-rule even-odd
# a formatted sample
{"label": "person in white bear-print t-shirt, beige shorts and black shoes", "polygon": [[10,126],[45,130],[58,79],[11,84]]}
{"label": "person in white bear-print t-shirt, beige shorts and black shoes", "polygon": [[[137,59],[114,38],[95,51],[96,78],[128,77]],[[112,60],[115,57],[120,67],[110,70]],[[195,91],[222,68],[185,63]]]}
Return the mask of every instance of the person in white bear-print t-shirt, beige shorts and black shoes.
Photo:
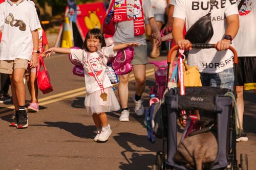
{"label": "person in white bear-print t-shirt, beige shorts and black shoes", "polygon": [[9,74],[11,79],[15,114],[10,126],[17,128],[28,127],[23,78],[28,64],[31,68],[37,66],[37,29],[40,27],[36,9],[32,3],[23,0],[7,0],[0,4],[0,30],[3,31],[0,46],[0,72]]}

